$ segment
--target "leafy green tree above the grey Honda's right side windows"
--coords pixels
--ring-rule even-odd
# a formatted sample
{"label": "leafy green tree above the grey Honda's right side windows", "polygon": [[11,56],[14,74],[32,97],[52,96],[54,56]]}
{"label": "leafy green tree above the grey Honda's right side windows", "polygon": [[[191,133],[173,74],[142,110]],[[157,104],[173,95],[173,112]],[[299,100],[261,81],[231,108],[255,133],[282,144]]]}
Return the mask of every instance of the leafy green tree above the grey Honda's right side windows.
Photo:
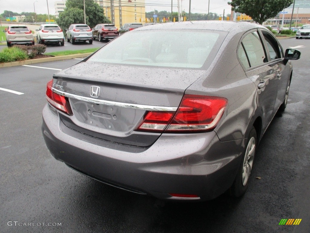
{"label": "leafy green tree above the grey Honda's right side windows", "polygon": [[232,10],[251,16],[259,24],[275,17],[284,8],[290,6],[294,0],[232,0],[228,2]]}

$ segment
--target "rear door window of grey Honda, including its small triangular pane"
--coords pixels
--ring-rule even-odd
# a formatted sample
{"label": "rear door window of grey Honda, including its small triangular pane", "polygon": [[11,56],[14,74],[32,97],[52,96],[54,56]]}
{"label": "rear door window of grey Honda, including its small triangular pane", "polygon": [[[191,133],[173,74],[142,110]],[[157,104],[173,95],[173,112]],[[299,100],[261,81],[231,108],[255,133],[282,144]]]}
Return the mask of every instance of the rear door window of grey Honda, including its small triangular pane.
{"label": "rear door window of grey Honda, including its small triangular pane", "polygon": [[[242,39],[239,50],[241,49],[241,46],[243,47],[244,52],[246,53],[250,67],[259,66],[267,62],[263,44],[256,31],[247,34]],[[244,56],[242,57],[241,55],[242,55],[242,51],[240,53],[238,52],[239,59],[242,62],[244,61],[245,58]],[[247,67],[246,62],[242,62],[242,64],[245,67]]]}

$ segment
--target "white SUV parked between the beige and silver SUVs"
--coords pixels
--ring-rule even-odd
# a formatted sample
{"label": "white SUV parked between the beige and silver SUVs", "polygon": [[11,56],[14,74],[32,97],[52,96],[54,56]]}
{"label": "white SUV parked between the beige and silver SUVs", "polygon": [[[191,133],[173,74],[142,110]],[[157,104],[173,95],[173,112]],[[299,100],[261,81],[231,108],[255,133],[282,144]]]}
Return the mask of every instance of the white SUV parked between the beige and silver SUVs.
{"label": "white SUV parked between the beige and silver SUVs", "polygon": [[57,24],[42,24],[36,31],[39,44],[60,43],[64,46],[64,33]]}

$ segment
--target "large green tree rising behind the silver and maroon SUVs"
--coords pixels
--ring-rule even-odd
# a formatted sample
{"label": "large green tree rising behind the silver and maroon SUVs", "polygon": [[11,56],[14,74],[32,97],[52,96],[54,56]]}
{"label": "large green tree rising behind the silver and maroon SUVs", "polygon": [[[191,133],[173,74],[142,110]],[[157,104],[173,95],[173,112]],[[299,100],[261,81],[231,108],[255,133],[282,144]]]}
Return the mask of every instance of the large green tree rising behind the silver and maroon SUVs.
{"label": "large green tree rising behind the silver and maroon SUVs", "polygon": [[[64,9],[64,12],[70,8],[78,8],[83,11],[83,23],[84,23],[84,1],[83,0],[67,0],[66,1],[66,8]],[[62,12],[62,13],[64,13]],[[65,13],[64,13],[65,14]],[[87,24],[92,28],[97,24],[101,23],[111,23],[110,20],[107,19],[106,16],[104,16],[103,8],[98,5],[93,0],[85,0],[85,14],[86,17],[88,17]],[[65,14],[66,15],[66,14]],[[67,20],[69,21],[69,20]],[[59,21],[57,21],[58,23]],[[77,21],[74,21],[73,23],[78,23]],[[70,25],[70,24],[69,24]],[[67,27],[69,26],[67,25]]]}

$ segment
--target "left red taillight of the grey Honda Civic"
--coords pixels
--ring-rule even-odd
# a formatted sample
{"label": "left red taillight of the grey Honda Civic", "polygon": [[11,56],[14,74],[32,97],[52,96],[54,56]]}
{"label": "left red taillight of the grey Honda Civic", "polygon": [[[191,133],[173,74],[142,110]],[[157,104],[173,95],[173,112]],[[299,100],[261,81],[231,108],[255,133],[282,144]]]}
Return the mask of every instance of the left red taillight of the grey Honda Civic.
{"label": "left red taillight of the grey Honda Civic", "polygon": [[55,108],[67,113],[72,116],[72,110],[67,97],[56,94],[52,91],[53,80],[49,81],[46,86],[46,98],[48,103],[50,103]]}

